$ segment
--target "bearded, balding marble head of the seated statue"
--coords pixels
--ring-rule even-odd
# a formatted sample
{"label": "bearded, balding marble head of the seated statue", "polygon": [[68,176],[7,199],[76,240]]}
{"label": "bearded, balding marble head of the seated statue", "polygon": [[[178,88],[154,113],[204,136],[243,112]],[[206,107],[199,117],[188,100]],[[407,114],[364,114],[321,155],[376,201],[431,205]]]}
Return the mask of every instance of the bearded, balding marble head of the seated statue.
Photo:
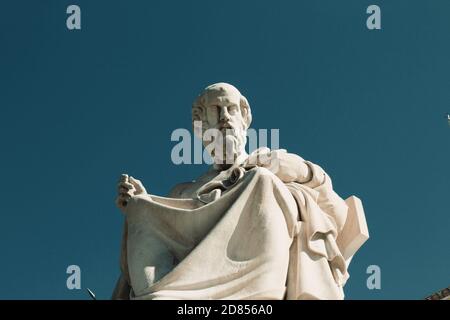
{"label": "bearded, balding marble head of the seated statue", "polygon": [[192,121],[215,164],[232,164],[245,154],[252,114],[247,99],[231,84],[206,87],[192,105]]}

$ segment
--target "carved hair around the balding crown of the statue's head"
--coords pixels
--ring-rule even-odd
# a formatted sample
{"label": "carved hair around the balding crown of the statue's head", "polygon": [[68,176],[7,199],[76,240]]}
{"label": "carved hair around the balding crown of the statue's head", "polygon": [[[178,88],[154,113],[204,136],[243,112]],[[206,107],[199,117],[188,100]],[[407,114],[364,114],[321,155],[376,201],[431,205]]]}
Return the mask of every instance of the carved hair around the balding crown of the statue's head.
{"label": "carved hair around the balding crown of the statue's head", "polygon": [[[206,108],[207,108],[206,97],[207,97],[209,91],[212,90],[213,87],[217,87],[219,85],[220,84],[213,84],[213,85],[208,86],[197,97],[197,99],[195,99],[194,103],[192,104],[192,127],[193,127],[194,133],[196,135],[198,135],[199,132],[197,132],[196,128],[194,127],[194,121],[202,122],[202,131],[209,129],[208,120],[206,117]],[[224,84],[224,85],[231,86],[229,84]],[[240,94],[239,109],[241,110],[241,115],[244,120],[244,125],[245,125],[244,129],[248,129],[248,127],[250,127],[250,123],[252,122],[252,112],[251,112],[250,105],[249,105],[247,99],[242,94]]]}

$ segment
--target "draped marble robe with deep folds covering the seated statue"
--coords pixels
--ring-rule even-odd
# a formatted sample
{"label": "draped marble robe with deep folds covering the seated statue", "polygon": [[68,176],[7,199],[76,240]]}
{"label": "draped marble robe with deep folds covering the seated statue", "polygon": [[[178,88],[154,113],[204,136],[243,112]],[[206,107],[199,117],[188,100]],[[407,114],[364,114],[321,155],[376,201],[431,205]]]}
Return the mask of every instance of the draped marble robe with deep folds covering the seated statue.
{"label": "draped marble robe with deep folds covering the seated statue", "polygon": [[130,299],[343,299],[347,205],[319,166],[305,183],[238,166],[126,207]]}

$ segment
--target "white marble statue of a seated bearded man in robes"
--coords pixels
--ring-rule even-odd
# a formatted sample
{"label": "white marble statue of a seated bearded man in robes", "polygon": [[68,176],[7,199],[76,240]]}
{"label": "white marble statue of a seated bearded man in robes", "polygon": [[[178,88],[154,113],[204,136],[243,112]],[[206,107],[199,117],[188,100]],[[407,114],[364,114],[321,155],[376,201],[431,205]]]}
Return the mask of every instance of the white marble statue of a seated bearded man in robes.
{"label": "white marble statue of a seated bearded man in robes", "polygon": [[207,87],[192,107],[214,164],[167,197],[128,175],[113,299],[343,299],[348,264],[368,239],[361,201],[343,200],[317,164],[286,150],[247,154],[252,121],[234,86]]}

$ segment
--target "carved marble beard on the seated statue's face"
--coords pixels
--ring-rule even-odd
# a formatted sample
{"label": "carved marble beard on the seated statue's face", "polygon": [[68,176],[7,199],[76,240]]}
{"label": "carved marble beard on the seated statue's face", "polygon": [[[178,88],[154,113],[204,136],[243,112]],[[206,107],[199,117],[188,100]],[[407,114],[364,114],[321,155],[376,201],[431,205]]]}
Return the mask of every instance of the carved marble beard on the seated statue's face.
{"label": "carved marble beard on the seated statue's face", "polygon": [[204,142],[205,148],[210,153],[217,165],[232,165],[236,158],[245,152],[247,143],[247,131],[244,124],[215,128],[212,141]]}

